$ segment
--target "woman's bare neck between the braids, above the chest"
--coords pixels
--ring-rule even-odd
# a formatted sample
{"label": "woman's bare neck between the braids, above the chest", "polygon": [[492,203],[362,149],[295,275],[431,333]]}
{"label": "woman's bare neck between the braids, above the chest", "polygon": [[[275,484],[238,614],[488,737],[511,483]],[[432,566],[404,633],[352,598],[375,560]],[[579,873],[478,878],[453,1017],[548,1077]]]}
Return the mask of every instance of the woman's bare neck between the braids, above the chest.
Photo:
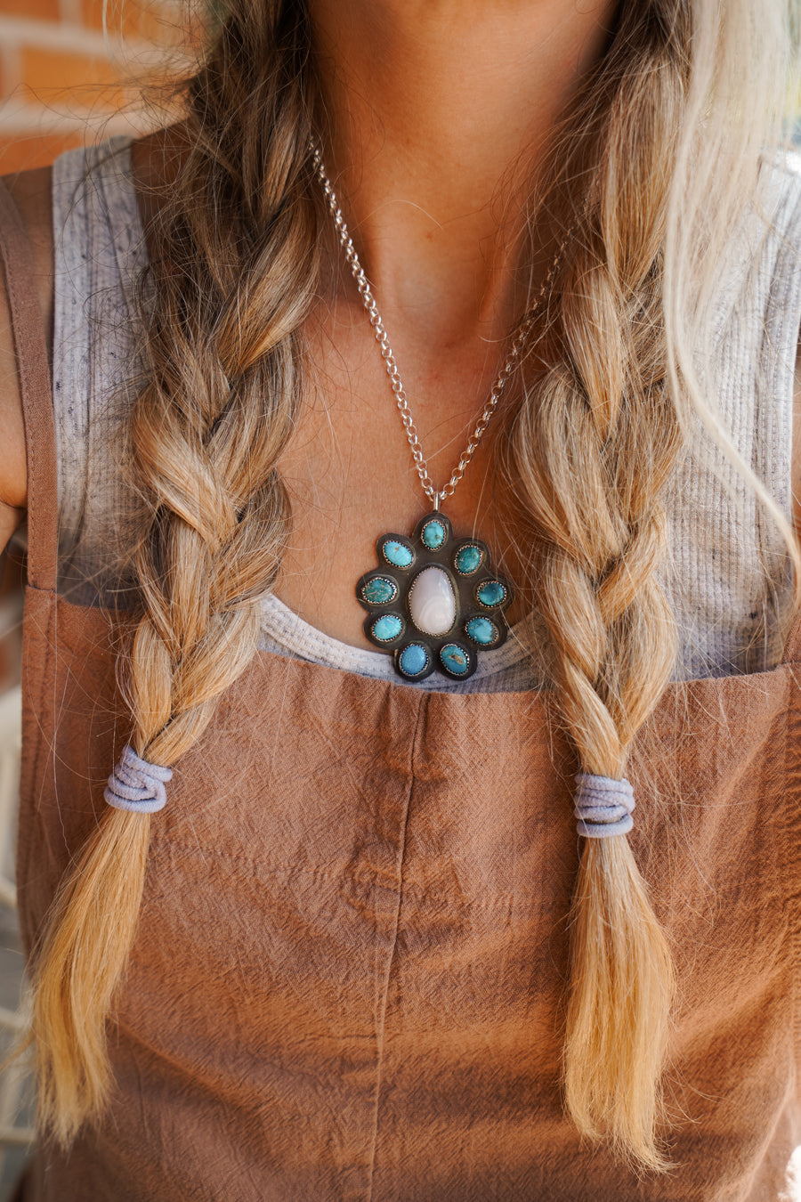
{"label": "woman's bare neck between the braids, above the chest", "polygon": [[388,326],[502,338],[530,284],[516,197],[616,0],[309,2],[327,166]]}

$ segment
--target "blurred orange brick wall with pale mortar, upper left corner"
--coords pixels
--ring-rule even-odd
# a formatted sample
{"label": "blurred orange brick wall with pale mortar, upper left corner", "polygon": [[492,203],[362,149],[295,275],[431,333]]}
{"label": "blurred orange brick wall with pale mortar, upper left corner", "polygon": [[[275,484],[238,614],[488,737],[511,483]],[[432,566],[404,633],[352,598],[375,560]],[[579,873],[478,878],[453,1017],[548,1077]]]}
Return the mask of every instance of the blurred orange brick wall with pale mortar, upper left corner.
{"label": "blurred orange brick wall with pale mortar, upper left corner", "polygon": [[141,78],[184,56],[177,0],[0,0],[0,174],[148,118]]}

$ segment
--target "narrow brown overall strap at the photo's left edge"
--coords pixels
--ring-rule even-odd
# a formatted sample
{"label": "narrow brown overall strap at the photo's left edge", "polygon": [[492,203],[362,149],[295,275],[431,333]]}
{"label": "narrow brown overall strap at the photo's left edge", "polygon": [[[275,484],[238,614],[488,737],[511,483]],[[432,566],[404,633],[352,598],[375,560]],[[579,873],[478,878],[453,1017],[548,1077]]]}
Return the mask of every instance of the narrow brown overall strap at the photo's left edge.
{"label": "narrow brown overall strap at the photo's left edge", "polygon": [[50,370],[36,267],[19,209],[0,180],[0,262],[5,268],[28,454],[28,581],[55,589],[58,487]]}

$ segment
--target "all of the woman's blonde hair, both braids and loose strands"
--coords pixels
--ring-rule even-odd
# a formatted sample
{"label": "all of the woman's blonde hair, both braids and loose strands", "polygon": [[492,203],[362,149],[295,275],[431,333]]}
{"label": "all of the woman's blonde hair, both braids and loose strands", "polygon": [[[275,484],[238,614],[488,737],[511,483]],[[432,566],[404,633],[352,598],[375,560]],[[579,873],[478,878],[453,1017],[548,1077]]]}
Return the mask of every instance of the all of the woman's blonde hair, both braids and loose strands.
{"label": "all of the woman's blonde hair, both braids and loose strands", "polygon": [[[531,529],[555,708],[591,773],[623,773],[670,678],[662,496],[692,416],[736,459],[692,351],[715,294],[710,264],[776,143],[788,13],[772,0],[623,2],[539,185],[564,220],[578,214],[576,230],[544,374],[509,419],[502,468]],[[300,331],[319,268],[309,47],[301,5],[228,0],[186,84],[181,172],[155,218],[148,383],[130,428],[148,507],[133,555],[142,617],[125,664],[131,742],[155,763],[201,738],[253,656],[258,599],[287,536],[277,465],[303,395]],[[784,517],[739,468],[791,548]],[[106,1025],[136,934],[149,821],[103,813],[36,953],[40,1123],[65,1144],[108,1099]],[[671,994],[670,950],[628,840],[587,840],[566,1106],[582,1135],[657,1171]]]}

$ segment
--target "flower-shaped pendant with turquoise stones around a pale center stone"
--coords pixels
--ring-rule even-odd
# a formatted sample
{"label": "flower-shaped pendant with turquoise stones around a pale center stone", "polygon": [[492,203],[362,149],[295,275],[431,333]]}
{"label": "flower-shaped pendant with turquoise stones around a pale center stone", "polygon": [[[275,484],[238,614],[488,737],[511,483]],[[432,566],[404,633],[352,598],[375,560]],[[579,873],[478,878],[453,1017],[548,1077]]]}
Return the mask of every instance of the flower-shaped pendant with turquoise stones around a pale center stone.
{"label": "flower-shaped pendant with turquoise stones around a pale center stone", "polygon": [[448,518],[434,511],[411,538],[384,534],[376,549],[381,567],[355,588],[367,611],[366,637],[393,653],[404,680],[424,680],[435,670],[467,680],[478,653],[506,642],[503,611],[514,597],[509,581],[491,571],[486,543],[455,538]]}

